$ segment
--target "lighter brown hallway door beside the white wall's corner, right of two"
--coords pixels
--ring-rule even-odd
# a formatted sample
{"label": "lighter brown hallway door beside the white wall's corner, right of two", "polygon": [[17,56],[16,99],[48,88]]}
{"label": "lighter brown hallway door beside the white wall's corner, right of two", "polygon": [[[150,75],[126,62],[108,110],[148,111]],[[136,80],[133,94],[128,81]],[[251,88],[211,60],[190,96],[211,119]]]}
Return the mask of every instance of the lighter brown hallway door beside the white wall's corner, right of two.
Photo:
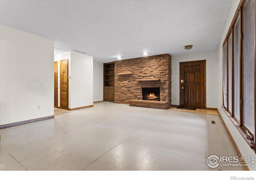
{"label": "lighter brown hallway door beside the white wall's corner, right of two", "polygon": [[60,108],[68,109],[68,59],[60,61]]}

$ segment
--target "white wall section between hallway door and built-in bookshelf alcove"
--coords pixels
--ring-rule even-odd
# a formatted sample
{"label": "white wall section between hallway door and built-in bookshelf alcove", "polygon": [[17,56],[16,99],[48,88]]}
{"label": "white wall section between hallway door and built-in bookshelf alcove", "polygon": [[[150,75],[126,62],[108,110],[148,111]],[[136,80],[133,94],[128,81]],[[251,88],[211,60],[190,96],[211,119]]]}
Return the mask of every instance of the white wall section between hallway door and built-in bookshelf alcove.
{"label": "white wall section between hallway door and built-in bookshelf alcove", "polygon": [[93,105],[93,57],[71,51],[70,108]]}

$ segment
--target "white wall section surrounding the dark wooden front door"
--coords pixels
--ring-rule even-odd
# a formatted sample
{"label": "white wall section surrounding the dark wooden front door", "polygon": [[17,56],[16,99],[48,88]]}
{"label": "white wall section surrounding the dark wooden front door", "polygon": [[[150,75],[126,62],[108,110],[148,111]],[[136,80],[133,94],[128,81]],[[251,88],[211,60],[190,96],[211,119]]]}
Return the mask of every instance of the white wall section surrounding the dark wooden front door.
{"label": "white wall section surrounding the dark wooden front door", "polygon": [[218,52],[172,56],[172,104],[180,105],[180,62],[206,60],[206,107],[218,106]]}

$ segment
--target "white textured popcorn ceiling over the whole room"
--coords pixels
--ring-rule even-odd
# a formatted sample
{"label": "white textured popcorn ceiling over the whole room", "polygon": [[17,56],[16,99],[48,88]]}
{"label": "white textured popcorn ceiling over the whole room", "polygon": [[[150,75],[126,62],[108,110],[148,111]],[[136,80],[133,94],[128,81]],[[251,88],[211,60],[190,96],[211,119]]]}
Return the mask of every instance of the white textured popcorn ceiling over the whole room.
{"label": "white textured popcorn ceiling over the whole room", "polygon": [[[99,62],[218,48],[232,0],[0,0],[0,23]],[[191,50],[184,45],[193,44]]]}

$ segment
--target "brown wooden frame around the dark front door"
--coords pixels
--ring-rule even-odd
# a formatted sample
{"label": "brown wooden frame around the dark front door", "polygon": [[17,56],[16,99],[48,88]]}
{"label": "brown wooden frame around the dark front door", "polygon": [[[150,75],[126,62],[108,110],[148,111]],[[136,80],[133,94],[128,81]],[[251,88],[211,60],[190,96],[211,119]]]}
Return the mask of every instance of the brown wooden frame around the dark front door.
{"label": "brown wooden frame around the dark front door", "polygon": [[[204,62],[204,109],[206,109],[206,60],[196,60],[196,61],[185,61],[180,62],[180,81],[181,81],[181,64],[192,63],[192,62]],[[180,106],[182,106],[182,82],[180,82]]]}

